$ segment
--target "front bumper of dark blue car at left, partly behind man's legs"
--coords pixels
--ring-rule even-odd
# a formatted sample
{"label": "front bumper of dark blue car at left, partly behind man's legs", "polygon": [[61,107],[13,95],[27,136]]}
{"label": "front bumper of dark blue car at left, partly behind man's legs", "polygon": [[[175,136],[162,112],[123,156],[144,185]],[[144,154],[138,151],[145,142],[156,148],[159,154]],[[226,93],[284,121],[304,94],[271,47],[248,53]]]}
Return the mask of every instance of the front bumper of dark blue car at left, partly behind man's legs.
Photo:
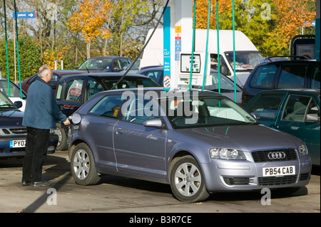
{"label": "front bumper of dark blue car at left, partly behind man's legs", "polygon": [[[21,141],[25,139],[26,139],[26,135],[0,137],[0,158],[24,156],[26,154],[26,147],[10,147],[10,142],[14,140]],[[57,144],[58,144],[58,135],[50,134],[47,154],[54,154],[54,152],[56,152]]]}

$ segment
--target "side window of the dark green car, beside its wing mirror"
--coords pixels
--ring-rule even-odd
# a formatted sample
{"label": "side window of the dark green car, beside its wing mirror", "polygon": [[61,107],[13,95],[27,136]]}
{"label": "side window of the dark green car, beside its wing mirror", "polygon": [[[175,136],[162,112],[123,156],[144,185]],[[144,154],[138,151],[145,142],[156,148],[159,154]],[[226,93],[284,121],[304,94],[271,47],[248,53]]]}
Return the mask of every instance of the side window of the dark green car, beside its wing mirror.
{"label": "side window of the dark green car, beside its wing mirror", "polygon": [[[290,95],[283,111],[282,120],[290,120],[294,122],[303,122],[305,114],[316,114],[318,107],[312,97]],[[320,117],[320,110],[319,110]]]}

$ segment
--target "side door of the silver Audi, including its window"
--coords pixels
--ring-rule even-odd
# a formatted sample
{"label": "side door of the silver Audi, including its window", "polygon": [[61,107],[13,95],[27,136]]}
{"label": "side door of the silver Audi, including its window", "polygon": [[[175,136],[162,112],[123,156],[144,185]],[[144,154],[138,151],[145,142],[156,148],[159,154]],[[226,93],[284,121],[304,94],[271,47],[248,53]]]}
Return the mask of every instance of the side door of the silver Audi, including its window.
{"label": "side door of the silver Audi, including its window", "polygon": [[113,131],[117,168],[126,174],[164,179],[167,131],[143,125],[145,120],[158,117],[157,103],[148,106],[148,102],[153,101],[134,97],[122,107],[123,119]]}

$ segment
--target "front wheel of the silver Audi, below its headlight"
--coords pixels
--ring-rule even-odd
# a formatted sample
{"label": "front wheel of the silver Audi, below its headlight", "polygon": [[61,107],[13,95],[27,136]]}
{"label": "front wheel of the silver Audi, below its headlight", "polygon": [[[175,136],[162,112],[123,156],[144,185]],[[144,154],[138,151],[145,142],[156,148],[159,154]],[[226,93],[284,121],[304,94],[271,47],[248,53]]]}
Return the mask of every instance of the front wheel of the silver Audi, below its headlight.
{"label": "front wheel of the silver Audi, below its headlight", "polygon": [[170,169],[170,187],[174,196],[185,202],[200,202],[210,194],[205,189],[203,173],[196,160],[188,155],[173,160]]}

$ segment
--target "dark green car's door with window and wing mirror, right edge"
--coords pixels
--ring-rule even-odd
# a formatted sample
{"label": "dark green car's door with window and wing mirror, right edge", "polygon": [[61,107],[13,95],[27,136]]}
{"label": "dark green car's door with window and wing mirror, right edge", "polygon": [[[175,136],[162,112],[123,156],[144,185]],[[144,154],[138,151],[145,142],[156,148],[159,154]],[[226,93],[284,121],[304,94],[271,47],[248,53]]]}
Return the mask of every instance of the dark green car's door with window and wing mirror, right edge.
{"label": "dark green car's door with window and wing mirror, right edge", "polygon": [[312,160],[318,159],[320,164],[320,107],[313,97],[290,95],[276,129],[305,142]]}

